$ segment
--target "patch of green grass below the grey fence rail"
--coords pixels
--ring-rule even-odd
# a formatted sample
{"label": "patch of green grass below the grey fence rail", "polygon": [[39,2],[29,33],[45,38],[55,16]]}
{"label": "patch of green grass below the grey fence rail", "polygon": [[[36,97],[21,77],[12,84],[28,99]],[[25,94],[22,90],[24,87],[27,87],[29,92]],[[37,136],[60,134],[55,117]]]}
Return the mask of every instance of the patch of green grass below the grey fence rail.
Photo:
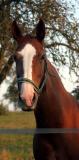
{"label": "patch of green grass below the grey fence rail", "polygon": [[1,135],[1,160],[33,160],[32,141],[32,135]]}

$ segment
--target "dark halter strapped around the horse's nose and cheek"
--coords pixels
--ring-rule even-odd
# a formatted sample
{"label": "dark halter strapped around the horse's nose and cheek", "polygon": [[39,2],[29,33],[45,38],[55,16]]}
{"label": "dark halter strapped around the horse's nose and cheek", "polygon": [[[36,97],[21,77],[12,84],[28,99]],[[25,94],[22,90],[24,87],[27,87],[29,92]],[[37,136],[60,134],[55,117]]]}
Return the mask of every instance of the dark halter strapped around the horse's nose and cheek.
{"label": "dark halter strapped around the horse's nose and cheek", "polygon": [[32,85],[34,86],[34,90],[35,90],[38,94],[40,94],[40,93],[42,92],[44,86],[45,86],[45,83],[46,83],[46,80],[47,80],[47,76],[48,76],[46,59],[44,59],[44,62],[45,62],[45,65],[44,65],[44,75],[43,75],[43,77],[42,77],[42,80],[41,80],[41,83],[40,83],[39,87],[36,86],[36,84],[35,84],[32,80],[30,80],[30,79],[28,79],[28,78],[23,78],[23,77],[17,78],[17,82],[18,82],[18,83],[28,82],[28,83],[32,84]]}

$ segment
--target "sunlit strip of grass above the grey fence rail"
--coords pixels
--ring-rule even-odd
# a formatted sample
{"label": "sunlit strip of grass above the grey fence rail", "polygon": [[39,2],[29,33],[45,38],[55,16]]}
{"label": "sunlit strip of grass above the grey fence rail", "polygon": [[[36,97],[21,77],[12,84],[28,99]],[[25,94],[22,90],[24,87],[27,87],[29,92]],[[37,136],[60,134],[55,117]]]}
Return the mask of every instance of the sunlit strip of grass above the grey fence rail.
{"label": "sunlit strip of grass above the grey fence rail", "polygon": [[0,128],[35,128],[33,112],[9,112],[0,116]]}

